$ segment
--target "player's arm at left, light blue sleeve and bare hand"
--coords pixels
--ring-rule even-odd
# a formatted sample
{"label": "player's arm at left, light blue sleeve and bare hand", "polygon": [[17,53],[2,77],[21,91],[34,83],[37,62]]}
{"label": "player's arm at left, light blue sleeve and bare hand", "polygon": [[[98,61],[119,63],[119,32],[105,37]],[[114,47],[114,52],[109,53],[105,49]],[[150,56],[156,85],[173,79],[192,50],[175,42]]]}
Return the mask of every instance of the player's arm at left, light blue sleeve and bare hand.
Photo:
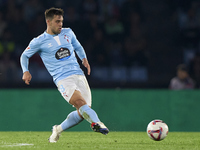
{"label": "player's arm at left, light blue sleeve and bare hand", "polygon": [[29,72],[28,65],[29,65],[29,58],[38,51],[38,43],[35,39],[33,39],[29,46],[25,49],[20,57],[20,64],[23,71],[22,80],[29,85],[32,79],[32,76]]}

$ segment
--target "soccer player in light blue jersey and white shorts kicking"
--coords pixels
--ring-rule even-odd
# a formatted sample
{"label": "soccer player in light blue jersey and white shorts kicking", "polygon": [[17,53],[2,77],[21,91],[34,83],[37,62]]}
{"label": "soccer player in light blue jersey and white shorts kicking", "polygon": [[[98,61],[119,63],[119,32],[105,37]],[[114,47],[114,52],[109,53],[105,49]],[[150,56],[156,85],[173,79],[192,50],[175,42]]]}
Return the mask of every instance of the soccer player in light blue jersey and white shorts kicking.
{"label": "soccer player in light blue jersey and white shorts kicking", "polygon": [[29,58],[36,52],[39,53],[63,98],[77,109],[72,111],[60,125],[53,126],[49,137],[51,143],[58,141],[62,131],[77,125],[83,119],[91,124],[95,132],[105,135],[109,132],[96,112],[91,109],[90,87],[77,62],[75,52],[87,68],[88,75],[90,75],[90,65],[74,32],[70,28],[62,28],[63,14],[60,8],[50,8],[45,11],[46,31],[29,43],[20,58],[22,79],[29,85],[32,78],[28,70]]}

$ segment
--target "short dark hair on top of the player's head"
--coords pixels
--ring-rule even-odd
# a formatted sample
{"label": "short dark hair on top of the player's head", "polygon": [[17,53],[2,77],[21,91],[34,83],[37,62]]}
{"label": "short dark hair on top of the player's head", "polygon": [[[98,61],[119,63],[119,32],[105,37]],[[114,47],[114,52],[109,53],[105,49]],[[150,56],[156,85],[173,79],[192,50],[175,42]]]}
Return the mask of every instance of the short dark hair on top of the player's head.
{"label": "short dark hair on top of the player's head", "polygon": [[54,15],[62,15],[64,14],[64,11],[61,8],[49,8],[45,11],[45,19],[53,19]]}

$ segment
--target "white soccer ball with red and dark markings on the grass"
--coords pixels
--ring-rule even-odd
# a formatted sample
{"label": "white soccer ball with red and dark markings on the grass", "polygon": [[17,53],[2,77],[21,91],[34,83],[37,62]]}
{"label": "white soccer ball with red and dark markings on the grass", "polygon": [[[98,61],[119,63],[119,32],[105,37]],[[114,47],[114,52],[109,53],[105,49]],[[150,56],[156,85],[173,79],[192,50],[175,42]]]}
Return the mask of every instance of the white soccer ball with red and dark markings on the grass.
{"label": "white soccer ball with red and dark markings on the grass", "polygon": [[166,138],[169,128],[162,120],[153,120],[147,126],[147,135],[155,141]]}

